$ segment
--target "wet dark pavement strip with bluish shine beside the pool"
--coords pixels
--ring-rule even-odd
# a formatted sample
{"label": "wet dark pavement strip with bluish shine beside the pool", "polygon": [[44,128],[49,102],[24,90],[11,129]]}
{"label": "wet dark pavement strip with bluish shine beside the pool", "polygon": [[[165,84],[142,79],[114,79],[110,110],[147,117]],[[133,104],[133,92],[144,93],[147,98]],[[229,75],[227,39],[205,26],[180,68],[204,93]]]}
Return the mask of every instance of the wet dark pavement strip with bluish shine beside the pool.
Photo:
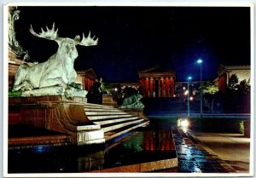
{"label": "wet dark pavement strip with bluish shine beside the pool", "polygon": [[207,152],[186,130],[173,129],[179,173],[236,173],[230,164]]}

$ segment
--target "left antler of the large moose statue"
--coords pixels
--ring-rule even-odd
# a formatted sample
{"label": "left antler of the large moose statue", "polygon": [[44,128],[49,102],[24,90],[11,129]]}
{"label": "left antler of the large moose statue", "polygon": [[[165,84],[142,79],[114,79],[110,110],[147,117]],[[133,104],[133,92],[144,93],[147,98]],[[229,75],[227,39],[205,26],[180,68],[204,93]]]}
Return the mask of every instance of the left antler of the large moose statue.
{"label": "left antler of the large moose statue", "polygon": [[31,28],[29,29],[29,32],[31,32],[34,36],[36,37],[43,37],[49,40],[56,40],[56,38],[58,37],[58,29],[55,31],[55,23],[53,23],[52,29],[49,30],[48,26],[46,26],[46,32],[44,31],[43,28],[41,28],[42,32],[40,32],[39,34],[34,32],[32,25]]}

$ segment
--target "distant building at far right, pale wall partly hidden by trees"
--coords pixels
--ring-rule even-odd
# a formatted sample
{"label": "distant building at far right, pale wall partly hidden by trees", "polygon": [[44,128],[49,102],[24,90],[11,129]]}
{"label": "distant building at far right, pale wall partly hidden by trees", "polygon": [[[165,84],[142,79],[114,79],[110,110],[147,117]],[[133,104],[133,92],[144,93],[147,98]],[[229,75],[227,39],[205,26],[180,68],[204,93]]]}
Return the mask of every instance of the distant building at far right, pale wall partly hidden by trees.
{"label": "distant building at far right, pale wall partly hidden by trees", "polygon": [[224,66],[220,65],[218,67],[218,90],[225,92],[229,78],[232,74],[236,74],[238,82],[242,80],[248,80],[251,78],[251,66]]}

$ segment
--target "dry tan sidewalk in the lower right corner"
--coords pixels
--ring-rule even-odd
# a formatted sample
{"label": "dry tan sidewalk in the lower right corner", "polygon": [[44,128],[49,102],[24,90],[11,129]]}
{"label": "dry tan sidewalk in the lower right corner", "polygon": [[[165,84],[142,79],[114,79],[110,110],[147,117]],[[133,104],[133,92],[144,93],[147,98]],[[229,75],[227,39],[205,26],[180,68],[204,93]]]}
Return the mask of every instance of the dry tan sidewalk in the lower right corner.
{"label": "dry tan sidewalk in the lower right corner", "polygon": [[[189,130],[191,135],[207,152],[218,155],[237,173],[249,173],[250,138],[240,134],[205,133]],[[252,171],[251,171],[252,172]]]}

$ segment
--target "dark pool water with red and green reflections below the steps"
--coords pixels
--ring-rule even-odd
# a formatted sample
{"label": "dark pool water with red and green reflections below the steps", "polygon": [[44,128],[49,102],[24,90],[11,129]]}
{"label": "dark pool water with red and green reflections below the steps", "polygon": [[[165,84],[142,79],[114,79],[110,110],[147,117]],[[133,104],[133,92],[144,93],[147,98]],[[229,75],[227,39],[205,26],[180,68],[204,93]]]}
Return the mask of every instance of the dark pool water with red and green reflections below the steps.
{"label": "dark pool water with red and green reflections below the steps", "polygon": [[170,150],[174,150],[171,125],[151,123],[108,147],[34,146],[9,150],[9,173],[89,172],[172,158],[175,155]]}

